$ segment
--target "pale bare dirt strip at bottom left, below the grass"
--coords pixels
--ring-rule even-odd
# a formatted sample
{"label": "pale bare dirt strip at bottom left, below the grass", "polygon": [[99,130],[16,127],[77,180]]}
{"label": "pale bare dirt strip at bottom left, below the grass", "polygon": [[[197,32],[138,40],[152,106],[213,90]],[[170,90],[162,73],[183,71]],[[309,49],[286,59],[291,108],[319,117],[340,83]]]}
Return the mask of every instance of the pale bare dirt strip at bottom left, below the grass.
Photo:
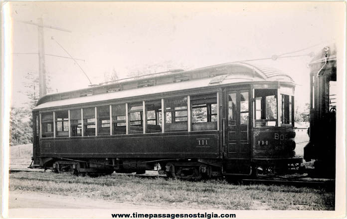
{"label": "pale bare dirt strip at bottom left, below the grass", "polygon": [[[116,197],[115,197],[116,199]],[[169,206],[159,205],[144,205],[134,203],[124,203],[115,201],[94,200],[88,198],[78,198],[54,194],[44,194],[39,192],[27,191],[9,191],[8,199],[8,216],[10,218],[29,218],[29,217],[42,217],[52,218],[55,217],[53,212],[59,212],[56,217],[63,217],[62,213],[70,215],[75,211],[82,214],[88,213],[85,217],[89,217],[90,211],[109,210],[112,213],[115,211],[124,210],[166,210],[170,209]],[[106,211],[107,212],[107,211]],[[111,213],[110,213],[111,214]],[[110,215],[107,215],[109,218]]]}

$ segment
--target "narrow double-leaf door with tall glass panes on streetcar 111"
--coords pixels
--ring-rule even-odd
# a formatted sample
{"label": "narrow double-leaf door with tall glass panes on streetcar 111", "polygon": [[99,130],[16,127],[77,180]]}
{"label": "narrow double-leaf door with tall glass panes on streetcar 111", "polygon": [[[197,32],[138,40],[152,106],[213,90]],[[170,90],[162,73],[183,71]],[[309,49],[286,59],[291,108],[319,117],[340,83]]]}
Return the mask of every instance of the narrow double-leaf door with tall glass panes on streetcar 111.
{"label": "narrow double-leaf door with tall glass panes on streetcar 111", "polygon": [[249,91],[227,92],[227,158],[249,158]]}

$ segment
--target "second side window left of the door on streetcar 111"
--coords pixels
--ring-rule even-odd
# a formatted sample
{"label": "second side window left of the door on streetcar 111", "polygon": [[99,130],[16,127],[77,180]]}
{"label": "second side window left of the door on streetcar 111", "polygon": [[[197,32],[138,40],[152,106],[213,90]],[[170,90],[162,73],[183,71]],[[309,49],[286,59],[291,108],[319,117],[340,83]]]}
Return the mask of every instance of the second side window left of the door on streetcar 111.
{"label": "second side window left of the door on streetcar 111", "polygon": [[165,130],[187,131],[188,112],[187,97],[169,98],[165,100]]}

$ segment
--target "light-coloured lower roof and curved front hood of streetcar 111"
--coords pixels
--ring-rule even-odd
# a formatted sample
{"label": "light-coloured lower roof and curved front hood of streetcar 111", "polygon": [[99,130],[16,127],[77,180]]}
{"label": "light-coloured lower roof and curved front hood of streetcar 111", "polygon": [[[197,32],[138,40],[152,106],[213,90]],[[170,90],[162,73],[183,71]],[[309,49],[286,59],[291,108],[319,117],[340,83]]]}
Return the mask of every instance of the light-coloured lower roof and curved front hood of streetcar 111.
{"label": "light-coloured lower roof and curved front hood of streetcar 111", "polygon": [[[177,82],[177,83],[161,84],[161,85],[155,85],[151,87],[133,88],[129,90],[94,94],[90,96],[75,97],[75,98],[64,99],[64,100],[47,101],[42,104],[38,103],[38,105],[33,110],[74,106],[74,105],[88,104],[88,103],[94,103],[94,102],[105,102],[105,101],[126,99],[126,98],[138,97],[138,96],[144,96],[144,95],[165,94],[165,93],[171,93],[175,91],[184,91],[184,90],[204,88],[204,87],[209,88],[216,85],[220,86],[220,85],[238,84],[238,83],[250,84],[254,82],[293,83],[292,78],[290,78],[287,74],[284,74],[283,72],[277,69],[267,67],[267,66],[260,66],[260,65],[257,65],[255,67],[254,65],[250,65],[248,63],[221,64],[221,65],[209,66],[205,68],[199,68],[199,69],[194,69],[194,70],[184,71],[179,73],[189,74],[189,73],[201,72],[201,71],[211,71],[211,69],[232,68],[237,66],[246,67],[248,69],[248,72],[244,71],[244,72],[235,73],[231,71],[229,73],[229,71],[227,71],[225,72],[225,74],[218,74],[214,77],[200,78],[200,79]],[[58,94],[53,94],[50,96],[54,96],[54,95],[58,95]]]}

